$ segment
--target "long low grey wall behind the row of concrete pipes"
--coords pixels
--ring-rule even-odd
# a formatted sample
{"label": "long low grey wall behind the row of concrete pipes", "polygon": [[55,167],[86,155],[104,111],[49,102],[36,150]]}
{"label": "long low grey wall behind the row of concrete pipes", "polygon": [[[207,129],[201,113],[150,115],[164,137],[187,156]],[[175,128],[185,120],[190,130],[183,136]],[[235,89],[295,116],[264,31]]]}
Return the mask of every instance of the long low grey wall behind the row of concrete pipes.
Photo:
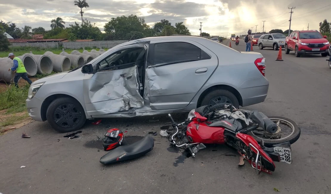
{"label": "long low grey wall behind the row of concrete pipes", "polygon": [[96,48],[112,48],[128,40],[102,40],[102,41],[89,41],[89,42],[13,42],[12,46],[29,46],[39,48],[63,48],[79,49],[84,47]]}

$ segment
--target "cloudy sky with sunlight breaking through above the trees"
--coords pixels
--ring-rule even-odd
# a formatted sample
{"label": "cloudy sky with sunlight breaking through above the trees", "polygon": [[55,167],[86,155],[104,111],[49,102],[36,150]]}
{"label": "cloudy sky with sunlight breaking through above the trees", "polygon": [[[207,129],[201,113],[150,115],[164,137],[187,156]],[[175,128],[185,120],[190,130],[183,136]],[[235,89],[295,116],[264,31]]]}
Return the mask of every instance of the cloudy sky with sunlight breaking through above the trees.
{"label": "cloudy sky with sunlight breaking through above the trees", "polygon": [[[9,3],[10,2],[10,3]],[[151,27],[161,19],[173,25],[184,22],[193,35],[202,31],[211,35],[240,34],[255,25],[262,31],[286,30],[289,27],[290,10],[293,9],[291,29],[319,29],[319,22],[331,22],[330,0],[87,0],[90,8],[84,9],[83,18],[103,26],[117,16],[130,14],[144,17]],[[42,26],[50,29],[50,21],[61,17],[66,26],[80,22],[80,9],[73,0],[0,0],[0,20],[16,23],[19,27]]]}

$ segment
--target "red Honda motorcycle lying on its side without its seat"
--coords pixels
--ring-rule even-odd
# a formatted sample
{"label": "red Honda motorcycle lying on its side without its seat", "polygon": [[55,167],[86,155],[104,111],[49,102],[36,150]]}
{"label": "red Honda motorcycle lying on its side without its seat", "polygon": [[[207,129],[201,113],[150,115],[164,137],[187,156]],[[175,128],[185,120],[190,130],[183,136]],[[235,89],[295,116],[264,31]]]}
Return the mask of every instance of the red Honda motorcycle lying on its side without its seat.
{"label": "red Honda motorcycle lying on its side without its seat", "polygon": [[[240,154],[238,165],[244,165],[245,159],[258,174],[261,171],[271,174],[275,170],[274,161],[291,164],[291,144],[301,133],[292,120],[268,118],[261,112],[236,109],[228,103],[193,109],[185,122],[179,124],[168,116],[175,129],[168,136],[170,146],[183,148],[194,158],[206,148],[204,144],[227,144]],[[179,126],[183,127],[179,130]],[[285,134],[287,131],[289,135]]]}

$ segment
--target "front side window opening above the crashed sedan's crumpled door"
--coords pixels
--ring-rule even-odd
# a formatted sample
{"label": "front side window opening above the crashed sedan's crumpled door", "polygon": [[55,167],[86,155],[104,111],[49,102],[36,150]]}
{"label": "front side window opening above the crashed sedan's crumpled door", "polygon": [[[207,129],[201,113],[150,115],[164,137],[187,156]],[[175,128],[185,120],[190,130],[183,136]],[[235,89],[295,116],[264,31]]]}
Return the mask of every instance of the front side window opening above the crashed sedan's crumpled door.
{"label": "front side window opening above the crashed sedan's crumpled door", "polygon": [[[112,53],[104,60],[99,62],[99,70],[103,70],[110,67],[125,65],[125,64],[132,64],[135,63],[139,54],[144,50],[144,48],[129,48],[118,51],[116,53]],[[126,67],[124,67],[126,68]],[[117,69],[122,69],[118,67]]]}

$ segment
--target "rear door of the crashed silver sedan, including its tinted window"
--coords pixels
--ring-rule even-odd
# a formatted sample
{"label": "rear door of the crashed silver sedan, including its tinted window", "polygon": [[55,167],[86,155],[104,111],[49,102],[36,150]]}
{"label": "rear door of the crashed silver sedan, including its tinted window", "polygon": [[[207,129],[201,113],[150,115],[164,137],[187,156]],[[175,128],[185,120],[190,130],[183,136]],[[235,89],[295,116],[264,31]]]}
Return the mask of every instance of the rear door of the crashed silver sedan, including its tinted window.
{"label": "rear door of the crashed silver sedan, including its tinted window", "polygon": [[151,41],[146,70],[151,109],[186,107],[217,66],[217,56],[195,41]]}

